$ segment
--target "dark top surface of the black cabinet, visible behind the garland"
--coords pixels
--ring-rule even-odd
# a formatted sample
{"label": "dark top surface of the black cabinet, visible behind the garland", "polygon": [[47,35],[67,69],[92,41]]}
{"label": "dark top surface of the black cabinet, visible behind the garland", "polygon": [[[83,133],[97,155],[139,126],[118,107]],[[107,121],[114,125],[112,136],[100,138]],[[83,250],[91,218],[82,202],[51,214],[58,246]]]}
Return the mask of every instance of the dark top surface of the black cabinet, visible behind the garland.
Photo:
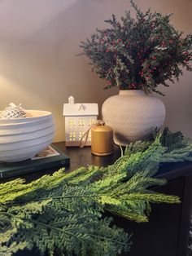
{"label": "dark top surface of the black cabinet, visible behind the garland", "polygon": [[[114,145],[114,151],[111,155],[106,157],[98,157],[91,154],[91,148],[78,148],[78,147],[66,147],[64,142],[53,143],[56,148],[63,151],[70,157],[70,166],[66,166],[66,171],[76,170],[81,166],[108,166],[113,164],[120,157],[120,147]],[[11,177],[9,179],[4,179],[3,182],[6,182],[15,178],[26,179],[26,182],[31,182],[34,179],[40,178],[44,174],[52,174],[56,170],[59,170],[60,167],[55,167],[51,169],[36,171],[28,174],[22,174],[19,176]],[[192,174],[192,161],[185,162],[174,162],[166,163],[160,165],[159,171],[155,174],[155,177],[164,178],[168,180],[177,179],[181,176],[187,176]]]}

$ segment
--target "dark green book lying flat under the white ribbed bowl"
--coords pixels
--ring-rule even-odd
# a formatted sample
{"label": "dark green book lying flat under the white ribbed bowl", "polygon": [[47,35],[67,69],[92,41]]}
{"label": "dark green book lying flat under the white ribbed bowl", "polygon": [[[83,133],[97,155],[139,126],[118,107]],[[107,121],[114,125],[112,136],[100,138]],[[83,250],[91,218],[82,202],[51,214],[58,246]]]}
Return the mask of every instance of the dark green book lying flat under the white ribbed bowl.
{"label": "dark green book lying flat under the white ribbed bowl", "polygon": [[52,144],[35,157],[26,161],[4,163],[0,162],[0,179],[20,174],[28,174],[38,170],[68,166],[69,157]]}

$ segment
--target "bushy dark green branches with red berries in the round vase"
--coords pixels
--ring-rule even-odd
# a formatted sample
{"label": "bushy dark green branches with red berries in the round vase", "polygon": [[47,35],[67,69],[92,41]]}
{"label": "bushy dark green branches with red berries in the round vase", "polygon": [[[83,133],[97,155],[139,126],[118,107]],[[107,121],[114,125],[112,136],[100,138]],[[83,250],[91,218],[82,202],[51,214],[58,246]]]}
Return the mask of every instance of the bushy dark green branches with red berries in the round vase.
{"label": "bushy dark green branches with red berries in the round vase", "polygon": [[192,34],[186,36],[174,29],[170,14],[162,15],[149,9],[136,12],[133,19],[125,11],[121,22],[112,15],[105,20],[110,27],[97,29],[91,38],[81,42],[81,49],[91,60],[92,71],[107,80],[105,88],[138,89],[157,92],[159,84],[169,86],[174,77],[182,75],[182,67],[191,71]]}

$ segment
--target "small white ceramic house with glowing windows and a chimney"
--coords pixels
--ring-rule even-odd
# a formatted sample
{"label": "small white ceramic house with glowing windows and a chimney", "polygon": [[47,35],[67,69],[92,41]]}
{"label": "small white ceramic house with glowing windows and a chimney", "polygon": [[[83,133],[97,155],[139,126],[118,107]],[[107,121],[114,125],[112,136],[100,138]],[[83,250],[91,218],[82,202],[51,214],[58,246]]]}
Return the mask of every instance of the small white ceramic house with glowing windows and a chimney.
{"label": "small white ceramic house with glowing windows and a chimney", "polygon": [[[66,146],[79,146],[84,133],[98,119],[98,104],[75,103],[72,96],[68,98],[68,104],[63,105],[65,117]],[[91,133],[85,146],[91,145]]]}

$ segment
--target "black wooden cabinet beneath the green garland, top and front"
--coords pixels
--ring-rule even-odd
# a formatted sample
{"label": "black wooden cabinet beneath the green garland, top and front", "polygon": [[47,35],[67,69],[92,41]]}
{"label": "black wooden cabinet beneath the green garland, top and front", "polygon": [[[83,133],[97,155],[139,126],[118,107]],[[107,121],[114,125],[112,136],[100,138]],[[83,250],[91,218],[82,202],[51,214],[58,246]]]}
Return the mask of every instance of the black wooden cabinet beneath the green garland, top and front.
{"label": "black wooden cabinet beneath the green garland, top and front", "polygon": [[[79,166],[111,165],[120,157],[120,148],[117,146],[115,146],[111,156],[96,157],[91,154],[89,147],[82,149],[66,148],[63,142],[55,143],[55,145],[70,157],[70,166],[66,167],[67,171],[75,170]],[[55,170],[41,170],[22,175],[22,178],[30,182],[43,174],[51,174]],[[113,216],[114,221],[119,227],[124,227],[124,230],[129,234],[133,233],[130,256],[186,256],[192,205],[192,162],[162,165],[155,177],[165,178],[168,183],[164,186],[155,187],[153,190],[177,195],[181,198],[181,204],[152,205],[148,223],[134,223],[117,216]],[[34,255],[29,252],[22,252],[21,254]]]}

